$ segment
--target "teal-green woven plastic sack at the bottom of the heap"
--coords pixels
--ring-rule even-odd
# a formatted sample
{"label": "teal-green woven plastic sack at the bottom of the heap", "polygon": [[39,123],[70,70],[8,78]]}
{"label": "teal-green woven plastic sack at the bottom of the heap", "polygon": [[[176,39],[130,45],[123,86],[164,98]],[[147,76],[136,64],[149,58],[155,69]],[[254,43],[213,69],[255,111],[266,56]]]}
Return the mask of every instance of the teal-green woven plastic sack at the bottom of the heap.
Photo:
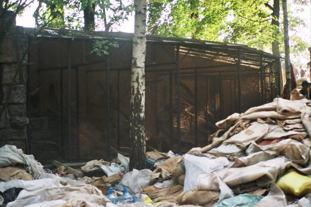
{"label": "teal-green woven plastic sack at the bottom of the heap", "polygon": [[221,201],[216,207],[234,207],[234,206],[249,206],[253,207],[256,205],[263,196],[254,195],[254,194],[240,194],[239,196],[234,196],[233,198],[227,198]]}

